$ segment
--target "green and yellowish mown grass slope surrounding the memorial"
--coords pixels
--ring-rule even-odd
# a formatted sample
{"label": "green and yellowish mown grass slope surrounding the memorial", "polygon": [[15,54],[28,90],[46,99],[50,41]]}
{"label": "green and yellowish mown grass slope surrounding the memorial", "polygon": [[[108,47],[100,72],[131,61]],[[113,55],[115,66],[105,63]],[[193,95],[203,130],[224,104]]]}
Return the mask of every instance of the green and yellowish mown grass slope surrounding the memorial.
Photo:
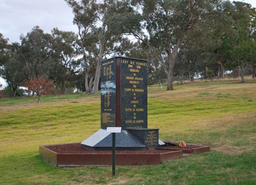
{"label": "green and yellowish mown grass slope surrounding the memorial", "polygon": [[81,142],[100,128],[100,96],[0,100],[0,184],[256,184],[256,81],[148,88],[148,127],[211,152],[158,166],[55,168],[38,146]]}

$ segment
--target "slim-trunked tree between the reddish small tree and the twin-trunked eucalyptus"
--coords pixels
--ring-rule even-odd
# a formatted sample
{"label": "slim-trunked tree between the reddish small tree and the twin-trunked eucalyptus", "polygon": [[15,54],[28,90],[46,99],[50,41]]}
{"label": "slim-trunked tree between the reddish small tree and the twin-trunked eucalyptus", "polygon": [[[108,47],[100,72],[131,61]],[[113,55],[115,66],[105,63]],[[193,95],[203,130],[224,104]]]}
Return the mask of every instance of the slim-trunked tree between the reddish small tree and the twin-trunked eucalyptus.
{"label": "slim-trunked tree between the reddish small tree and the twin-trunked eucalyptus", "polygon": [[63,94],[67,83],[79,72],[79,68],[77,68],[80,64],[78,38],[74,32],[59,31],[57,28],[52,30],[52,36],[52,57],[57,65],[53,70],[56,70],[57,73],[51,71],[50,75],[56,75],[56,80],[60,81],[61,93]]}

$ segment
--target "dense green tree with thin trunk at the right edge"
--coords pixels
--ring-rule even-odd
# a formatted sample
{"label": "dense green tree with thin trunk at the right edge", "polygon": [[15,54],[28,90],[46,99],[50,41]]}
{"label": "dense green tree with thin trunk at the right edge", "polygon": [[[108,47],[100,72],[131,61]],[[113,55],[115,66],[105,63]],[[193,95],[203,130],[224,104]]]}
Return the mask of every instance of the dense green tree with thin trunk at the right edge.
{"label": "dense green tree with thin trunk at the right edge", "polygon": [[[216,49],[220,58],[220,63],[234,69],[239,68],[241,82],[244,82],[244,69],[246,64],[255,63],[255,8],[243,2],[233,2],[230,7],[226,7],[230,18],[226,24],[226,29],[221,31],[219,37],[221,45]],[[224,22],[225,23],[225,22]],[[224,24],[223,23],[223,24]]]}

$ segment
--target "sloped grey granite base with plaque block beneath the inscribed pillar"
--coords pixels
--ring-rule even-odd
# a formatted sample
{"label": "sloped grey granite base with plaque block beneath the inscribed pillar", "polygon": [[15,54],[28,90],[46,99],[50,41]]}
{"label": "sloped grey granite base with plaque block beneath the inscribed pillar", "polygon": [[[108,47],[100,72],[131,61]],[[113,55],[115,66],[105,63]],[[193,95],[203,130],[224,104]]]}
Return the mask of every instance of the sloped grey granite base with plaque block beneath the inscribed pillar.
{"label": "sloped grey granite base with plaque block beneath the inscribed pillar", "polygon": [[[121,130],[116,133],[117,150],[147,150],[157,149],[164,143],[158,138],[159,129],[136,128]],[[87,150],[111,150],[112,134],[106,129],[100,129],[81,143]]]}

